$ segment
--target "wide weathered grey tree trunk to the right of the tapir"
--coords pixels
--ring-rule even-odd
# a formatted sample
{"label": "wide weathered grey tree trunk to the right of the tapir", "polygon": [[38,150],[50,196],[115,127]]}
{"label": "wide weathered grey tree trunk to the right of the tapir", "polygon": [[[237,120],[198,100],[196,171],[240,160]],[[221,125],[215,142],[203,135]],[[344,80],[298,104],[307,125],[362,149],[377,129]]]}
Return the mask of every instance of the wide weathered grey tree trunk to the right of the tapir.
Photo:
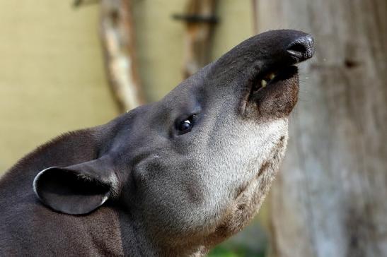
{"label": "wide weathered grey tree trunk to the right of the tapir", "polygon": [[275,256],[387,256],[387,1],[255,0],[256,26],[314,35],[282,172]]}

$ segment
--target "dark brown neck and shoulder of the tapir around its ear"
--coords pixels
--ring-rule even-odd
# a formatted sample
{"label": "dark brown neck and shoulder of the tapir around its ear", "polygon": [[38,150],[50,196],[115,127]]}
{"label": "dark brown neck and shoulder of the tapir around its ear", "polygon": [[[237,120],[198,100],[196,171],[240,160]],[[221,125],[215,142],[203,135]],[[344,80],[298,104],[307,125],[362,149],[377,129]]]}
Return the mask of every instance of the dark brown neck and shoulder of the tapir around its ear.
{"label": "dark brown neck and shoulder of the tapir around its ear", "polygon": [[23,157],[0,179],[0,256],[122,256],[118,215],[103,207],[90,215],[55,213],[35,196],[42,169],[93,160],[99,129],[65,133]]}

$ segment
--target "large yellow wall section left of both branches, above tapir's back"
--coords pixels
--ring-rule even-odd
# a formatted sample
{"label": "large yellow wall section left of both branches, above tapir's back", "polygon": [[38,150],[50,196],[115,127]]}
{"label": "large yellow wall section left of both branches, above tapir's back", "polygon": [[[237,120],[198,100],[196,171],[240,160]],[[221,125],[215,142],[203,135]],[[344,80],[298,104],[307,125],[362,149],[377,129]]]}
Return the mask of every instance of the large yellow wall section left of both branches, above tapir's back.
{"label": "large yellow wall section left of both branches, above tapir's back", "polygon": [[97,25],[97,5],[0,1],[0,173],[59,133],[117,114]]}

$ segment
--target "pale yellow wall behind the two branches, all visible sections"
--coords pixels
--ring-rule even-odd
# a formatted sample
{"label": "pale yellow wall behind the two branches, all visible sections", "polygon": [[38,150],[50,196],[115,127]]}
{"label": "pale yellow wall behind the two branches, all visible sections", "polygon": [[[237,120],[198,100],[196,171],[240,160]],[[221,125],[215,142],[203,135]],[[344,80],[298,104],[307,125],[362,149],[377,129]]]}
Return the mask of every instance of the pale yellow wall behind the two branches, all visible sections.
{"label": "pale yellow wall behind the two branches, all visible sections", "polygon": [[[59,133],[117,115],[98,37],[98,4],[0,1],[0,174]],[[186,1],[133,0],[137,56],[150,101],[182,80]],[[253,34],[250,0],[219,0],[212,59]]]}

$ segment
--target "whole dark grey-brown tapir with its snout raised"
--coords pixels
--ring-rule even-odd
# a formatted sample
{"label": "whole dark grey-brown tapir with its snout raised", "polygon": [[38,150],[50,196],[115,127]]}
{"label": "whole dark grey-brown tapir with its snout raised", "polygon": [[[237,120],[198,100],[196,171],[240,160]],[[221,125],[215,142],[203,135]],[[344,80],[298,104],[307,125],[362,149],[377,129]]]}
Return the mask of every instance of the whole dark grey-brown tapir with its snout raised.
{"label": "whole dark grey-brown tapir with its snout raised", "polygon": [[65,133],[0,180],[0,256],[205,256],[258,212],[313,37],[238,44],[159,102]]}

